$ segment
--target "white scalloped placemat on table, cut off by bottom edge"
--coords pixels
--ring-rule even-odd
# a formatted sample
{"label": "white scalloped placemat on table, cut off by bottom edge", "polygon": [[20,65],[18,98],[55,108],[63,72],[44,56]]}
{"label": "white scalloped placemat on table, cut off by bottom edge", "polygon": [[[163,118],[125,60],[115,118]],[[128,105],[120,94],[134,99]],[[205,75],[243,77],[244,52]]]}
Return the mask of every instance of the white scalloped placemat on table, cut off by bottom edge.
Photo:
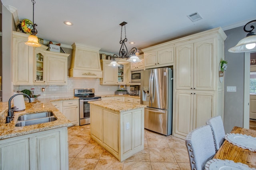
{"label": "white scalloped placemat on table, cut off by bottom edge", "polygon": [[233,160],[221,160],[221,159],[211,159],[205,164],[206,170],[255,170],[255,168],[250,168],[246,164],[241,162],[234,162]]}

